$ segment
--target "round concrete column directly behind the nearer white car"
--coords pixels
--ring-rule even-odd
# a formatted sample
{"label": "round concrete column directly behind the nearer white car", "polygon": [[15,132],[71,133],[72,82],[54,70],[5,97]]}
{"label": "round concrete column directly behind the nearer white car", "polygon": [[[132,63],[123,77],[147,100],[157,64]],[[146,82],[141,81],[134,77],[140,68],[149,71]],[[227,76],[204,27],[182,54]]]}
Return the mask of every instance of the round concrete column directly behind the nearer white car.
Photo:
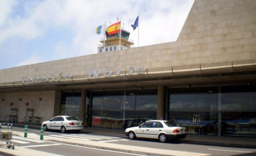
{"label": "round concrete column directly behind the nearer white car", "polygon": [[164,119],[164,86],[157,89],[157,120]]}

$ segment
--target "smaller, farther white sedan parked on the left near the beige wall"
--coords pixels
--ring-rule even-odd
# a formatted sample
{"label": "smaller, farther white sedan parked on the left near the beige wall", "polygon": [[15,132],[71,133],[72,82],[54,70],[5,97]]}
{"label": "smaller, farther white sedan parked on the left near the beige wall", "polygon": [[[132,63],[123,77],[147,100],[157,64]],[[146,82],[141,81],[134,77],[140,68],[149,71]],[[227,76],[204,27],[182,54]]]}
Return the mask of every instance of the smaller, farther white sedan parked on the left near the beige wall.
{"label": "smaller, farther white sedan parked on the left near the beige wall", "polygon": [[66,130],[75,130],[79,131],[84,128],[84,122],[79,121],[72,116],[56,116],[49,121],[44,121],[42,123],[44,131],[48,129],[61,130],[62,133],[65,133]]}

